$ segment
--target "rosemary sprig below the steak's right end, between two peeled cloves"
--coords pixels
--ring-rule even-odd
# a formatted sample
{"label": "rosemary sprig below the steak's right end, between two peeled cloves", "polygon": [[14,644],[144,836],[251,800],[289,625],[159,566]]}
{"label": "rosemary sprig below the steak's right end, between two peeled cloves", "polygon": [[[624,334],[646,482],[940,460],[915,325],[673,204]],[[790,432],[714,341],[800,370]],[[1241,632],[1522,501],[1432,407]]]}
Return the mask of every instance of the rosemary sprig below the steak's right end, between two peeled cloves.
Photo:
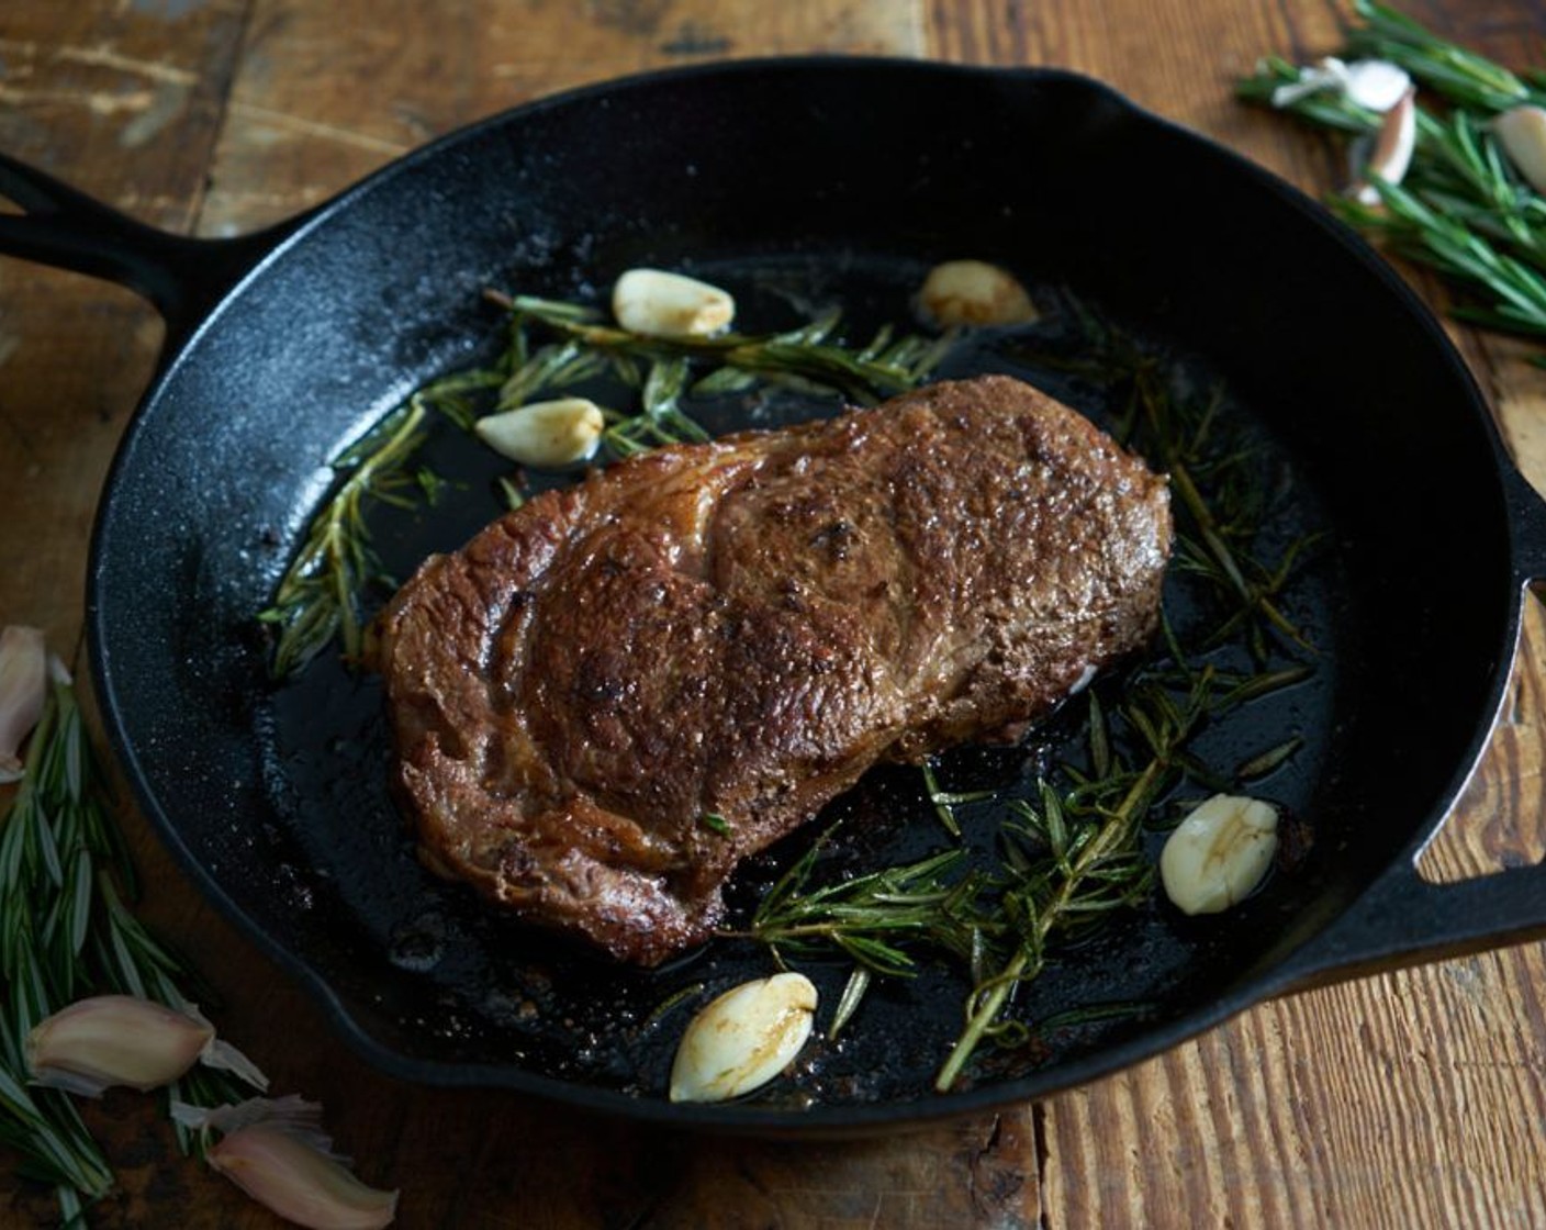
{"label": "rosemary sprig below the steak's right end, between two peeled cloves", "polygon": [[[1093,772],[1064,766],[1061,789],[1042,781],[1037,805],[1010,803],[993,870],[974,868],[968,852],[954,848],[815,885],[829,831],[764,896],[745,934],[767,944],[781,964],[830,950],[855,961],[864,973],[850,978],[833,1029],[849,1021],[873,978],[915,976],[925,955],[971,969],[965,1024],[935,1078],[937,1089],[949,1089],[986,1038],[1025,1032],[1006,1009],[1014,992],[1042,973],[1054,938],[1074,938],[1149,894],[1153,866],[1141,837],[1156,800],[1197,774],[1189,740],[1204,721],[1263,695],[1206,664],[1184,676],[1180,693],[1167,678],[1142,676],[1118,710],[1125,741],[1138,749],[1130,761],[1113,755],[1091,695]],[[1272,682],[1299,678],[1279,673]],[[1291,752],[1274,749],[1274,766]]]}

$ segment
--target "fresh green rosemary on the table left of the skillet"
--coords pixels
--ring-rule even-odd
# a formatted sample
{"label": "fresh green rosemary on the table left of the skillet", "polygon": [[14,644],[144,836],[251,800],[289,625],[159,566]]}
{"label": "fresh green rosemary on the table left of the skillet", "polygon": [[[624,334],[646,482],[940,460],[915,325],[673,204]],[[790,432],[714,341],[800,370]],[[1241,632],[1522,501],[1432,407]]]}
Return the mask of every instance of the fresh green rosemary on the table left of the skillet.
{"label": "fresh green rosemary on the table left of the skillet", "polygon": [[[28,1085],[23,1041],[85,995],[124,993],[181,1007],[190,972],[135,917],[133,863],[111,822],[74,690],[56,682],[31,735],[15,797],[0,815],[0,1143],[19,1173],[54,1187],[62,1219],[113,1187],[74,1103]],[[172,1086],[193,1105],[240,1100],[241,1086],[203,1071]],[[198,1143],[178,1129],[186,1151]]]}

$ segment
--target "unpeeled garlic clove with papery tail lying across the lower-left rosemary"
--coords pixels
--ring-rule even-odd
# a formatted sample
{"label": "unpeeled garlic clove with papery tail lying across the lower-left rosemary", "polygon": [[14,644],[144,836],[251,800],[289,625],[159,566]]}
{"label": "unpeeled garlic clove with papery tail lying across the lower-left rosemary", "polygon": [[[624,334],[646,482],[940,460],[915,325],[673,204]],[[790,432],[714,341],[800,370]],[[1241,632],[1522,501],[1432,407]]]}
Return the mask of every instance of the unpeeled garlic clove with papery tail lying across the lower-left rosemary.
{"label": "unpeeled garlic clove with papery tail lying across the lower-left rosemary", "polygon": [[99,1097],[122,1085],[158,1089],[195,1063],[223,1068],[257,1089],[267,1078],[230,1043],[220,1041],[193,1004],[181,1009],[133,995],[77,999],[39,1021],[23,1044],[36,1085]]}

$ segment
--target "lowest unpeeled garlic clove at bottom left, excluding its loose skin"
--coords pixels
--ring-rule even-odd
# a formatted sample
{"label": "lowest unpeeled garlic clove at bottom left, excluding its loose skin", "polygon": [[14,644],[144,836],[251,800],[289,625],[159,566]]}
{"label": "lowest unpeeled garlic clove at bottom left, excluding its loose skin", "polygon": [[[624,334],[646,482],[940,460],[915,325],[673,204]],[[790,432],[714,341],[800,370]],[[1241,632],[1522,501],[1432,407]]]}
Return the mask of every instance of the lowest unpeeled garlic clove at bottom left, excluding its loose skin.
{"label": "lowest unpeeled garlic clove at bottom left, excluding its loose skin", "polygon": [[345,1162],[277,1123],[252,1123],[223,1136],[209,1165],[258,1204],[312,1230],[391,1225],[397,1193],[360,1182]]}

